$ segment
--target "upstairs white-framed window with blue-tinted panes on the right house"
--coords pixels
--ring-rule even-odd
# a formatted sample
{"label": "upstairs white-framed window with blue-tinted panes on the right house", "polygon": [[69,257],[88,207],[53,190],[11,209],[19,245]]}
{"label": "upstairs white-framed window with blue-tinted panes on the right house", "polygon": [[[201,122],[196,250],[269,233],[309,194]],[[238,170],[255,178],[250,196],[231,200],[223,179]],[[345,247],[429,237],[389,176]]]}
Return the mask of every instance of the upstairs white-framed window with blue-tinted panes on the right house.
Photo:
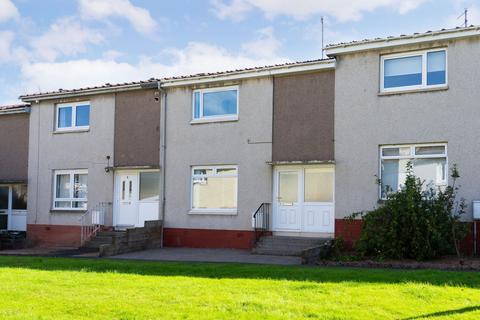
{"label": "upstairs white-framed window with blue-tinted panes on the right house", "polygon": [[446,49],[385,55],[380,63],[380,91],[446,87],[447,69]]}

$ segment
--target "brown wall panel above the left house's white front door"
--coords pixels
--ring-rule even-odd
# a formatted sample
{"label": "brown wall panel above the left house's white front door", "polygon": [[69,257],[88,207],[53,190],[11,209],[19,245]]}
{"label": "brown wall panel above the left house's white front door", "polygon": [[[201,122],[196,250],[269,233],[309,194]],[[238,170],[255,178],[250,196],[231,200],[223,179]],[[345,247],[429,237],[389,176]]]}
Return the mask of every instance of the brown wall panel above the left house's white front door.
{"label": "brown wall panel above the left house's white front door", "polygon": [[116,94],[115,166],[157,166],[160,147],[160,103],[155,90]]}

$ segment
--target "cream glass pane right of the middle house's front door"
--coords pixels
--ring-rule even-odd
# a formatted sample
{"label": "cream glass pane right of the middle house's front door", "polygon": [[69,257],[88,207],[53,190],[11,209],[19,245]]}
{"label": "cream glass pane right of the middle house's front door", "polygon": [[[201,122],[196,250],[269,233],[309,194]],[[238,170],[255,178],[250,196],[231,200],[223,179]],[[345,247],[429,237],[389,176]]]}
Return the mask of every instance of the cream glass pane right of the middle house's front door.
{"label": "cream glass pane right of the middle house's front door", "polygon": [[333,172],[305,169],[305,202],[333,202]]}

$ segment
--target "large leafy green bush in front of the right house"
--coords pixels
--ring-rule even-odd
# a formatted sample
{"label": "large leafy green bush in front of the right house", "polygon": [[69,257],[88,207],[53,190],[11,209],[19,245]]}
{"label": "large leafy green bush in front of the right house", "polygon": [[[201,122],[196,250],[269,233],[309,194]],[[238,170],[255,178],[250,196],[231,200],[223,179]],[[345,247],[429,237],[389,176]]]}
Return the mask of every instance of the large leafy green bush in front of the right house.
{"label": "large leafy green bush in front of the right house", "polygon": [[459,178],[456,166],[451,170],[452,184],[443,189],[425,190],[424,181],[415,177],[407,165],[405,185],[387,192],[385,202],[361,215],[363,230],[356,249],[363,256],[391,259],[426,260],[456,252],[466,235],[459,223],[465,213],[464,199],[456,200]]}

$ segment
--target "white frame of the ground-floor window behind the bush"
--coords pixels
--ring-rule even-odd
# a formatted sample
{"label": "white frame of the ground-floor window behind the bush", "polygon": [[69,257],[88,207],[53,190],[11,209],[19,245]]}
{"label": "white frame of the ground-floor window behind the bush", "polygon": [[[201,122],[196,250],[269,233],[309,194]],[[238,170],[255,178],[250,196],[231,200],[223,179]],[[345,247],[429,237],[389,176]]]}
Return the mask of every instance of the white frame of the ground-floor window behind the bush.
{"label": "white frame of the ground-floor window behind the bush", "polygon": [[[417,155],[415,153],[417,147],[438,147],[442,146],[445,148],[443,154],[431,154],[431,155]],[[383,149],[388,148],[410,148],[410,155],[408,156],[383,156]],[[447,186],[448,185],[448,144],[447,143],[416,143],[416,144],[389,144],[389,145],[380,145],[379,147],[379,156],[378,156],[378,177],[380,181],[382,180],[382,160],[402,160],[402,159],[437,159],[445,158],[445,177],[441,184],[435,184],[436,186]],[[386,197],[382,197],[382,184],[379,183],[378,187],[378,198],[380,200],[386,200]]]}

